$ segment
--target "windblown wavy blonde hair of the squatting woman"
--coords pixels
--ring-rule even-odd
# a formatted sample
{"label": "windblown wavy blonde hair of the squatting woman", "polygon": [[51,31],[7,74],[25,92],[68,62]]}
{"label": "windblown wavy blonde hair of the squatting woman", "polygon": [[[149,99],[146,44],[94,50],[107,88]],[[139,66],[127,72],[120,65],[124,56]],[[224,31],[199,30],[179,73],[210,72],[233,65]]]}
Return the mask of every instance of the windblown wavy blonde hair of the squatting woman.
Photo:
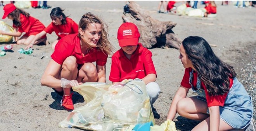
{"label": "windblown wavy blonde hair of the squatting woman", "polygon": [[[99,17],[97,17],[96,15],[93,15],[91,12],[85,13],[82,18],[79,21],[79,28],[81,28],[82,30],[86,30],[88,29],[89,24],[100,24],[102,27],[102,33],[101,33],[101,37],[97,43],[96,48],[103,51],[104,53],[106,53],[107,55],[112,55],[113,54],[113,45],[109,42],[109,34],[107,33],[108,31],[108,26],[106,25],[106,23],[101,20]],[[87,51],[90,51],[90,49],[92,49],[92,47],[85,42],[85,40],[83,39],[83,37],[81,36],[80,33],[78,33],[78,37],[86,44],[85,47],[87,49]]]}

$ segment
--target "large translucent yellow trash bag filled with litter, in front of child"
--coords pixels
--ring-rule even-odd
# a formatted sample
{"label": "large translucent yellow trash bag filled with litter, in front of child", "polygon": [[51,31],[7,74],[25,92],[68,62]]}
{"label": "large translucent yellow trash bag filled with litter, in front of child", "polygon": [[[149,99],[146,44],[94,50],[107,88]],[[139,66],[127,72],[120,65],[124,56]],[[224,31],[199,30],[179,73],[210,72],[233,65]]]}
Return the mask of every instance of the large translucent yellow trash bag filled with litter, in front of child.
{"label": "large translucent yellow trash bag filled with litter, in front of child", "polygon": [[86,82],[73,87],[86,104],[74,109],[64,121],[62,128],[78,127],[94,131],[126,129],[130,124],[152,121],[149,96],[141,79],[124,80],[123,84]]}

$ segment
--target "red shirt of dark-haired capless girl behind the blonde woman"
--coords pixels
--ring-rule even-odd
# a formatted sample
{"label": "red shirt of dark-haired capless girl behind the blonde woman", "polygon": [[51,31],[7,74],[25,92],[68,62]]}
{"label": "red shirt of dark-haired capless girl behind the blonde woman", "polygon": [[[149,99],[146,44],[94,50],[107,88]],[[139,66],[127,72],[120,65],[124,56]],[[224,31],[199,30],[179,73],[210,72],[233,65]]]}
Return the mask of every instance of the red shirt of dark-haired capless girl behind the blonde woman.
{"label": "red shirt of dark-haired capless girl behind the blonde woman", "polygon": [[51,22],[44,31],[48,34],[52,34],[52,32],[55,32],[59,39],[69,34],[78,33],[78,24],[76,24],[76,22],[68,17],[66,18],[66,22],[67,23],[65,25],[55,25]]}

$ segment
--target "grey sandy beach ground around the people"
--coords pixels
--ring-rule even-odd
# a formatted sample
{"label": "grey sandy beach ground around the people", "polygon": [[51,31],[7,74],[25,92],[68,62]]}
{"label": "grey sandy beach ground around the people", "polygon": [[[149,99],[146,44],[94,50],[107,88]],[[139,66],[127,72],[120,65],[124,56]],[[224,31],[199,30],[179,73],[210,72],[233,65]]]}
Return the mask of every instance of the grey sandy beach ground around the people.
{"label": "grey sandy beach ground around the people", "polygon": [[[221,6],[217,1],[216,18],[195,18],[174,14],[157,13],[159,1],[137,1],[141,8],[147,10],[152,18],[160,21],[176,22],[173,32],[181,39],[188,36],[201,36],[206,39],[214,52],[222,60],[234,66],[237,78],[254,99],[256,105],[256,8],[234,8],[232,2]],[[5,1],[9,3],[9,1]],[[119,49],[117,30],[122,24],[125,1],[48,1],[49,6],[65,9],[65,15],[79,22],[86,12],[92,12],[102,18],[109,26],[109,39],[116,50]],[[181,3],[176,3],[176,6]],[[204,7],[198,2],[198,8]],[[24,9],[31,16],[39,19],[45,26],[50,24],[51,9]],[[3,10],[3,7],[0,7]],[[163,10],[163,8],[162,8]],[[3,11],[0,12],[2,18]],[[2,20],[2,19],[1,19]],[[8,18],[2,20],[9,25]],[[55,33],[47,34],[50,43],[57,39]],[[0,45],[2,46],[2,44]],[[13,51],[0,57],[0,130],[1,131],[78,131],[77,128],[59,128],[70,112],[64,110],[59,102],[61,96],[49,87],[41,86],[40,79],[47,66],[53,50],[50,45],[35,45],[31,55],[19,54],[17,50],[26,47],[15,45]],[[115,51],[116,51],[115,50]],[[156,119],[160,125],[166,120],[171,101],[180,86],[184,68],[177,49],[150,49],[157,71],[157,83],[161,93],[154,103],[161,118]],[[106,79],[109,81],[111,58],[107,59]],[[193,96],[192,91],[189,96]],[[73,95],[74,107],[85,104],[83,97]],[[254,121],[255,121],[254,111]],[[180,131],[191,130],[198,122],[176,115],[174,120]]]}

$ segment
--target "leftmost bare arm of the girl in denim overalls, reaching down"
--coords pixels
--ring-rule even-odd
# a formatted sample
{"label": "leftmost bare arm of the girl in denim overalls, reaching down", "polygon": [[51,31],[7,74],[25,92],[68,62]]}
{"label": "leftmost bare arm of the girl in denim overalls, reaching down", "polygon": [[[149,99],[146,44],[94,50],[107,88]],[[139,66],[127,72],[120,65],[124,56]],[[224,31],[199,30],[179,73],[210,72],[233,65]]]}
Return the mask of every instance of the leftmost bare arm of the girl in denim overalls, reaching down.
{"label": "leftmost bare arm of the girl in denim overalls, reaching down", "polygon": [[189,88],[180,86],[178,91],[176,92],[173,101],[171,102],[171,106],[168,112],[167,119],[173,120],[175,118],[175,115],[177,113],[176,111],[176,104],[180,99],[185,98],[187,96],[187,93],[189,92]]}

